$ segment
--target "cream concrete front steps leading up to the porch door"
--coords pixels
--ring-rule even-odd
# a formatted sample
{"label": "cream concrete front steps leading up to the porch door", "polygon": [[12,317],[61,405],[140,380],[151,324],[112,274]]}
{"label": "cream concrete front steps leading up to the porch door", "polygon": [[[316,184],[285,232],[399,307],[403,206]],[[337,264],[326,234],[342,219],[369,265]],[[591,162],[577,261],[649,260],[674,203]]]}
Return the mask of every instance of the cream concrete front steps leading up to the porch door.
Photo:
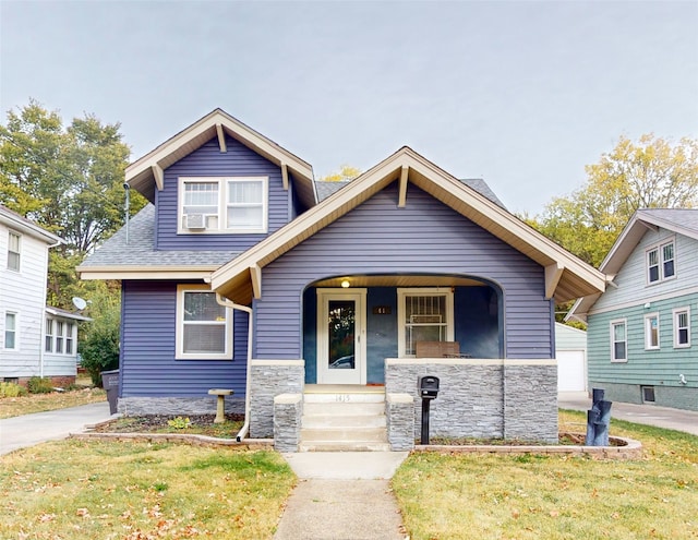
{"label": "cream concrete front steps leading up to the porch door", "polygon": [[305,385],[299,452],[389,452],[382,386]]}

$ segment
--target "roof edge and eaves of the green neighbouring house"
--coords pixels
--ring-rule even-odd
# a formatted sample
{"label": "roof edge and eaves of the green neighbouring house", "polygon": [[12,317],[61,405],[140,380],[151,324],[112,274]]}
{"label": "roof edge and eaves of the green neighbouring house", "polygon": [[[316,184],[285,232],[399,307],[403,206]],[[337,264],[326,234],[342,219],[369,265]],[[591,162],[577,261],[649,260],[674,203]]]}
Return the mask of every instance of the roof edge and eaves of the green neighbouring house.
{"label": "roof edge and eaves of the green neighbouring house", "polygon": [[[691,208],[641,208],[627,223],[611,251],[605,256],[599,269],[606,274],[610,280],[621,271],[627,259],[635,251],[648,230],[659,228],[674,231],[698,240],[698,209]],[[597,303],[601,293],[580,298],[569,310],[565,319],[587,320],[589,310]]]}

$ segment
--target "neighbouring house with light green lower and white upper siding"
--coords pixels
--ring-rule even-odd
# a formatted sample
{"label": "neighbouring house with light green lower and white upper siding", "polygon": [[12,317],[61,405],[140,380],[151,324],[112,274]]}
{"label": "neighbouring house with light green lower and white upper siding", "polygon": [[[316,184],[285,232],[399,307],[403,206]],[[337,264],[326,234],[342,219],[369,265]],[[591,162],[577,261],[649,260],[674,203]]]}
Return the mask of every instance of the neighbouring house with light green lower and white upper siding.
{"label": "neighbouring house with light green lower and white upper siding", "polygon": [[698,410],[698,209],[639,209],[601,264],[613,280],[577,301],[589,387],[607,399]]}

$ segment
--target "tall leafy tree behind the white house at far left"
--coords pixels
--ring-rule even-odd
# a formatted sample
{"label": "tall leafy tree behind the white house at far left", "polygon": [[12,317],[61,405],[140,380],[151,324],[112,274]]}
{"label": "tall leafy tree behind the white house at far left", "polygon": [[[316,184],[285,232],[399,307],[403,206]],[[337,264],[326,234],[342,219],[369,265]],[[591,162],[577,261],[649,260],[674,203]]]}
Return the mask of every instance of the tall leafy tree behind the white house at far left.
{"label": "tall leafy tree behind the white house at far left", "polygon": [[[0,204],[61,236],[61,254],[93,251],[123,224],[130,151],[119,128],[86,115],[64,129],[35,100],[10,110],[0,125]],[[144,205],[133,193],[132,212]]]}

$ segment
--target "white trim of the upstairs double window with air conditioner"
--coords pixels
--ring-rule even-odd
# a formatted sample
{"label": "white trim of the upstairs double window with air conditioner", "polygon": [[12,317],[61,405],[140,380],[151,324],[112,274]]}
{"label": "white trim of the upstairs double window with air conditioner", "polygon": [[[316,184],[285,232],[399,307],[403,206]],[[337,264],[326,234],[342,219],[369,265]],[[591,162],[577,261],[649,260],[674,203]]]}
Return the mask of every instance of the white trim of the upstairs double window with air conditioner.
{"label": "white trim of the upstairs double window with air conditioner", "polygon": [[[256,229],[227,229],[227,206],[229,182],[262,182],[262,227]],[[184,227],[184,184],[191,182],[218,183],[218,214],[216,228],[188,229]],[[177,192],[177,233],[178,235],[260,235],[268,231],[269,217],[269,177],[179,177]]]}

